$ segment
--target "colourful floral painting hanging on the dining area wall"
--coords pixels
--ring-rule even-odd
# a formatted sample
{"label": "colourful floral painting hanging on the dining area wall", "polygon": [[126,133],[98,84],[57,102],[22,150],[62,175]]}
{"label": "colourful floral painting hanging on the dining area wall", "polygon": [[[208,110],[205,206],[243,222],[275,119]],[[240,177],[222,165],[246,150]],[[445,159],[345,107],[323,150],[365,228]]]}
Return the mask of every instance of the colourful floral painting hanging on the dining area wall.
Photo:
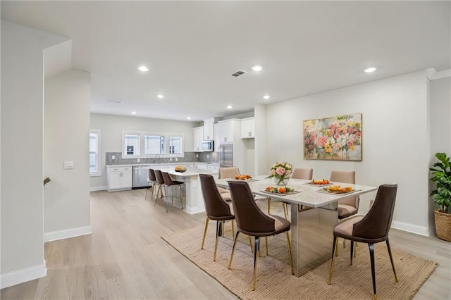
{"label": "colourful floral painting hanging on the dining area wall", "polygon": [[362,161],[362,113],[304,120],[304,159]]}

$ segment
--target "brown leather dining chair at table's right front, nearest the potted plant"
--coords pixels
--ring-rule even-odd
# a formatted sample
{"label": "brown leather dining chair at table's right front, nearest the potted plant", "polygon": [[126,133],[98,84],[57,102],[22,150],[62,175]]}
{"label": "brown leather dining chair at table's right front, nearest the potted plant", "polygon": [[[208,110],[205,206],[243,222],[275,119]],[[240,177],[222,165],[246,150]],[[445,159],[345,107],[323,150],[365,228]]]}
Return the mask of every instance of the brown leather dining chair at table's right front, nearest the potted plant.
{"label": "brown leather dining chair at table's right front, nearest the potted plant", "polygon": [[351,241],[351,265],[352,251],[354,242],[366,243],[369,246],[369,256],[371,261],[371,277],[373,279],[374,299],[377,300],[376,294],[376,273],[374,265],[374,244],[384,242],[387,244],[388,256],[392,263],[395,281],[397,280],[395,264],[393,263],[392,251],[388,242],[388,232],[393,219],[393,211],[395,209],[397,185],[381,185],[378,188],[376,199],[373,206],[366,215],[356,215],[352,218],[343,220],[333,228],[333,249],[332,262],[330,263],[330,273],[328,284],[332,283],[333,264],[335,263],[335,252],[338,249],[338,237],[349,239]]}

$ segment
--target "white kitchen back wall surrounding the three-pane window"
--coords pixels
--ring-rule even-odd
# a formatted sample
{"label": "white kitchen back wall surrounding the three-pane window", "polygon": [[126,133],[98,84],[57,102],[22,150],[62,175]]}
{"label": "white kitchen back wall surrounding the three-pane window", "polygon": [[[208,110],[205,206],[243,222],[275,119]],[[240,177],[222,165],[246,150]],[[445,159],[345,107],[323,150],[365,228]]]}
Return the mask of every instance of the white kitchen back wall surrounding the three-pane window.
{"label": "white kitchen back wall surrounding the three-pane window", "polygon": [[99,129],[100,132],[100,156],[99,169],[101,176],[91,177],[91,189],[106,188],[106,152],[122,152],[122,131],[156,131],[183,133],[185,151],[192,150],[192,128],[195,123],[175,120],[161,120],[150,118],[124,117],[121,115],[91,114],[91,129]]}

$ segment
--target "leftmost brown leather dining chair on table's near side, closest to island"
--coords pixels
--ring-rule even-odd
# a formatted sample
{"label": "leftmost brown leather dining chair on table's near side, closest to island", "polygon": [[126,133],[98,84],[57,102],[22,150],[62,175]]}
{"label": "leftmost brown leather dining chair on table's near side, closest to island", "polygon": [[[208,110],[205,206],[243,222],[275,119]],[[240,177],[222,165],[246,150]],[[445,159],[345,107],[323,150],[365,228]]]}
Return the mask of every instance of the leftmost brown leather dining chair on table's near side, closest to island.
{"label": "leftmost brown leather dining chair on table's near side, closest to island", "polygon": [[209,220],[216,220],[216,242],[214,244],[214,254],[213,261],[216,261],[216,251],[218,251],[218,237],[223,235],[223,225],[226,220],[232,221],[232,235],[235,232],[235,226],[233,225],[233,220],[235,220],[235,215],[233,215],[232,203],[226,203],[221,197],[221,194],[216,187],[214,178],[211,175],[199,174],[200,184],[202,186],[202,196],[204,196],[206,220],[205,220],[205,230],[204,238],[202,239],[202,246],[200,249],[204,249],[206,231],[209,227]]}

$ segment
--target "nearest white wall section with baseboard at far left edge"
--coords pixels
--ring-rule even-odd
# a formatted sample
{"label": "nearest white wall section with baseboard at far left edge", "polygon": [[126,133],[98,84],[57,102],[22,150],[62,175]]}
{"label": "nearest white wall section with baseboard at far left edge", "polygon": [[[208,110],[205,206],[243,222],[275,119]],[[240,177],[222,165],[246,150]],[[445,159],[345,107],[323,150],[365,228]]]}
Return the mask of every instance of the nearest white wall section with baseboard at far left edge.
{"label": "nearest white wall section with baseboard at far left edge", "polygon": [[42,277],[43,49],[66,37],[1,21],[1,288]]}

